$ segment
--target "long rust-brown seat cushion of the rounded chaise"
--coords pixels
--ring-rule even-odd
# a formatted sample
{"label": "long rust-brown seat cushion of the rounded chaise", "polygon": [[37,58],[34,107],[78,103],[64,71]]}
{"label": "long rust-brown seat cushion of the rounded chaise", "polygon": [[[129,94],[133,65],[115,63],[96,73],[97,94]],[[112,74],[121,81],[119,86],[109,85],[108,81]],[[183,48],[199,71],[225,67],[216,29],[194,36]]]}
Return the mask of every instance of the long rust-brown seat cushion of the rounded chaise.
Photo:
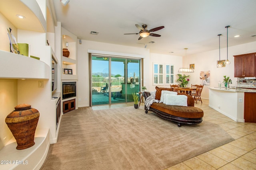
{"label": "long rust-brown seat cushion of the rounded chaise", "polygon": [[150,107],[177,117],[201,118],[204,116],[204,111],[198,107],[172,106],[163,103],[153,103]]}

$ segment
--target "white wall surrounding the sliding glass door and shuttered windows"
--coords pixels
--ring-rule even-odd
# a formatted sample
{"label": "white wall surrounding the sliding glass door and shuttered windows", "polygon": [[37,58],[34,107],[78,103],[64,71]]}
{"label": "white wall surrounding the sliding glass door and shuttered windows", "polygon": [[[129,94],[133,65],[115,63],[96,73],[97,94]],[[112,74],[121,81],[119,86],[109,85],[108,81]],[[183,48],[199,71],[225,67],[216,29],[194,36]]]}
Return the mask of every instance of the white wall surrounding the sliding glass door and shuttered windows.
{"label": "white wall surrounding the sliding glass door and shuttered windows", "polygon": [[[152,80],[152,64],[168,63],[174,64],[175,71],[182,66],[182,57],[171,55],[159,55],[150,53],[149,49],[129,47],[124,45],[115,45],[108,43],[100,43],[95,41],[82,40],[82,44],[78,43],[78,107],[89,106],[89,62],[88,49],[97,51],[106,51],[110,53],[140,55],[144,58],[144,86],[148,90],[155,90]],[[166,86],[170,87],[170,86]]]}

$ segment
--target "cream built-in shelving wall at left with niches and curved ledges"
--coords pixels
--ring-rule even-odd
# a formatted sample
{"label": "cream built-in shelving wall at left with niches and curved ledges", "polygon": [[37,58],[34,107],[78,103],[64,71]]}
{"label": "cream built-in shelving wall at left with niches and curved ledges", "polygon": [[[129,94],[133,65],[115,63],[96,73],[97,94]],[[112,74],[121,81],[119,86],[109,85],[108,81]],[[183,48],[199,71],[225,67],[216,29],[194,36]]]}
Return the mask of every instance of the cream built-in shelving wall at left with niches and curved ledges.
{"label": "cream built-in shelving wall at left with niches and curved ledges", "polygon": [[[43,153],[39,156],[36,154],[33,158],[33,163],[24,169],[39,169],[44,162],[50,143],[56,143],[58,137],[58,127],[56,129],[56,104],[60,98],[60,80],[61,80],[61,55],[55,54],[56,51],[61,51],[61,39],[56,37],[61,36],[61,26],[54,22],[54,7],[51,0],[12,0],[0,1],[0,25],[1,27],[12,28],[18,43],[27,43],[30,45],[30,55],[39,57],[40,60],[25,57],[19,54],[10,53],[9,40],[6,29],[0,29],[2,36],[2,43],[0,44],[0,79],[2,84],[2,92],[7,95],[0,101],[2,106],[0,108],[1,117],[6,117],[8,113],[6,110],[14,110],[18,104],[30,104],[31,107],[38,109],[40,113],[37,131],[45,131],[39,137],[44,137],[44,143],[37,143],[37,148],[24,150],[24,152],[16,152],[16,147],[11,142],[12,135],[5,126],[5,120],[0,120],[1,128],[0,141],[4,141],[4,147],[0,145],[0,150],[8,152],[9,158],[19,158],[23,160],[33,152]],[[23,15],[26,18],[20,20],[16,15]],[[59,30],[56,32],[56,28]],[[46,41],[50,43],[48,45]],[[4,43],[6,41],[6,43]],[[58,48],[58,49],[56,49]],[[57,52],[58,53],[58,52]],[[58,63],[56,70],[58,75],[58,88],[52,92],[52,58]],[[8,87],[8,83],[14,80],[14,91]],[[11,98],[8,94],[12,95]],[[15,96],[16,95],[16,96]],[[54,97],[54,98],[53,98]],[[11,102],[8,100],[12,100]],[[8,105],[12,103],[15,106]],[[10,112],[9,112],[10,113]],[[61,117],[60,117],[61,119]],[[9,142],[8,142],[9,141]],[[32,149],[33,148],[33,149]],[[0,151],[0,152],[1,152]],[[14,153],[15,155],[12,155]],[[2,155],[2,153],[0,153]],[[36,166],[34,166],[36,165]],[[40,166],[38,166],[40,165]],[[33,166],[33,167],[32,167]],[[10,167],[9,167],[10,168]],[[8,169],[9,169],[8,168]],[[14,168],[14,167],[12,167]],[[12,169],[11,168],[11,169]]]}

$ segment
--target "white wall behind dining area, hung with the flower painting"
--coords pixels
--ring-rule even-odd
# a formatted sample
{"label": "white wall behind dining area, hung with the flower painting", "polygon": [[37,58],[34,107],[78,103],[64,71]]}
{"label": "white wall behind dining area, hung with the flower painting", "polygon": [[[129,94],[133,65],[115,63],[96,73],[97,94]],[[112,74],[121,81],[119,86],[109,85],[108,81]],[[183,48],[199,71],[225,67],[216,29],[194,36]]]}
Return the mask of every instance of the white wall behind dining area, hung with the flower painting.
{"label": "white wall behind dining area, hung with the flower painting", "polygon": [[[256,52],[256,41],[252,43],[246,43],[242,45],[236,45],[228,47],[228,59],[230,64],[226,67],[217,68],[217,61],[219,60],[219,49],[207,51],[204,53],[198,53],[195,55],[187,56],[187,65],[195,64],[194,73],[189,73],[190,84],[200,84],[200,71],[210,70],[210,85],[205,85],[202,91],[201,98],[209,98],[209,90],[207,87],[218,87],[218,82],[223,82],[223,76],[229,76],[232,80],[230,86],[236,86],[237,78],[234,77],[234,55],[255,53]],[[227,59],[227,48],[220,49],[220,60]]]}

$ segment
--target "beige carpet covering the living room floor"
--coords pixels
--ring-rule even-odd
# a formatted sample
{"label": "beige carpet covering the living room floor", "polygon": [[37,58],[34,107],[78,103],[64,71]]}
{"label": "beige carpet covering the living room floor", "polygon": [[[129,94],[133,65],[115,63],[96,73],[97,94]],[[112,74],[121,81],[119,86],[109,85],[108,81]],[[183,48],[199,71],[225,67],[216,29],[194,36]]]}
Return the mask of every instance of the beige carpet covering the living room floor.
{"label": "beige carpet covering the living room floor", "polygon": [[62,116],[41,169],[163,170],[233,140],[207,121],[178,127],[143,108],[81,107]]}

